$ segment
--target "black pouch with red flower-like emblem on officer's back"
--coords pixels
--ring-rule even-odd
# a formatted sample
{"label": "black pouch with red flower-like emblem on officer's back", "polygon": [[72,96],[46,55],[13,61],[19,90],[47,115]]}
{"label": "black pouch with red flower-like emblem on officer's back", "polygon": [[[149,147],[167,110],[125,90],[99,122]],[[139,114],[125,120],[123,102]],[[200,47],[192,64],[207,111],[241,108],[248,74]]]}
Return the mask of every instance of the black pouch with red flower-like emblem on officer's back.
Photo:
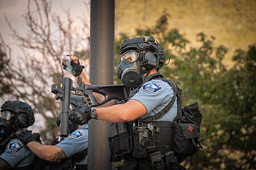
{"label": "black pouch with red flower-like emblem on officer's back", "polygon": [[174,152],[176,155],[191,155],[196,147],[195,138],[198,138],[196,124],[174,125]]}

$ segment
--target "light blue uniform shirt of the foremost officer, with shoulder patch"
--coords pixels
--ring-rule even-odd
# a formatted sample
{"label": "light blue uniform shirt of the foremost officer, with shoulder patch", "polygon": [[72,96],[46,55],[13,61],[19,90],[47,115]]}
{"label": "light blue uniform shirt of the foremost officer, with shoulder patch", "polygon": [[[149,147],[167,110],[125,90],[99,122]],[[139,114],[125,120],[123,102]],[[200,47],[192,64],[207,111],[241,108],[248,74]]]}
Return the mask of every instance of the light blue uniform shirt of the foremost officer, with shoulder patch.
{"label": "light blue uniform shirt of the foremost officer, with shoulder patch", "polygon": [[[172,87],[163,80],[153,79],[143,84],[139,91],[130,100],[138,100],[147,109],[147,114],[141,118],[153,116],[163,110],[174,96]],[[173,121],[177,116],[177,97],[175,103],[164,116],[155,121]]]}

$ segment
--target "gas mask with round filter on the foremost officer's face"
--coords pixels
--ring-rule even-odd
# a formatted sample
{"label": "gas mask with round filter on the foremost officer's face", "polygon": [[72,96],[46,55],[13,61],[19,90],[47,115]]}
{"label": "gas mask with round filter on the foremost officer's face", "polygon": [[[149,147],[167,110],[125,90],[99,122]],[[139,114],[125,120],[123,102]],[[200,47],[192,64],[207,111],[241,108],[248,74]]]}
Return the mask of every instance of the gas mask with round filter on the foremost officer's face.
{"label": "gas mask with round filter on the foremost officer's face", "polygon": [[139,53],[135,50],[128,50],[121,56],[121,62],[117,66],[117,76],[126,87],[134,88],[143,81],[143,67],[138,66]]}

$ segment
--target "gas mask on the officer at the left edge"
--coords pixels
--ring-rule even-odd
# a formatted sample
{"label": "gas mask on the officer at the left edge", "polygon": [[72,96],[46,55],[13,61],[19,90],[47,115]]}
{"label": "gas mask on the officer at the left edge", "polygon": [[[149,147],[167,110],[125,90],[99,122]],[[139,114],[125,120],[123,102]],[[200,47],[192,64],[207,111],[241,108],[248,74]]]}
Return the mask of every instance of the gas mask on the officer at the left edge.
{"label": "gas mask on the officer at the left edge", "polygon": [[13,117],[10,111],[2,111],[0,113],[0,139],[6,139],[13,133]]}

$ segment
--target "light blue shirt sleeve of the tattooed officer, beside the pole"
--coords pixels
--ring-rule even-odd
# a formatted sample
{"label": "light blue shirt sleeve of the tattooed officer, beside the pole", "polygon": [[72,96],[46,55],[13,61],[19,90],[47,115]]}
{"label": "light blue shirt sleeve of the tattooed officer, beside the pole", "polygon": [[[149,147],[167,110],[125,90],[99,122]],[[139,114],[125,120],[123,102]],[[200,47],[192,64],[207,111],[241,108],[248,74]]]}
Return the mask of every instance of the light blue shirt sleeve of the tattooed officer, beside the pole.
{"label": "light blue shirt sleeve of the tattooed officer, beside the pole", "polygon": [[[88,147],[88,124],[80,126],[77,130],[73,131],[68,135],[67,138],[63,139],[56,146],[60,147],[67,158],[81,152]],[[76,164],[87,164],[87,157]]]}

